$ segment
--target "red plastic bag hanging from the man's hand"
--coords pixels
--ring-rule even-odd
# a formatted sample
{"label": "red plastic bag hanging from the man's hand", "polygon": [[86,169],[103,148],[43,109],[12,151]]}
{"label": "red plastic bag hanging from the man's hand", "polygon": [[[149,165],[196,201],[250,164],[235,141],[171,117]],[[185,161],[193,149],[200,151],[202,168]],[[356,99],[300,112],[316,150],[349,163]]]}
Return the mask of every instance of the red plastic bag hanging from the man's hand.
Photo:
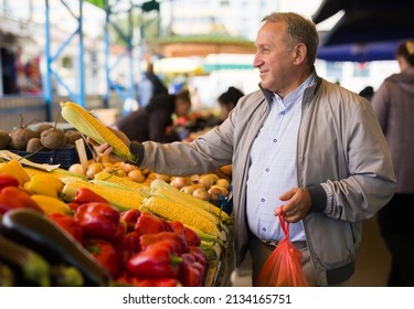
{"label": "red plastic bag hanging from the man's hand", "polygon": [[301,268],[301,251],[289,241],[289,223],[282,209],[279,222],[285,237],[269,255],[257,277],[257,287],[307,287],[309,286]]}

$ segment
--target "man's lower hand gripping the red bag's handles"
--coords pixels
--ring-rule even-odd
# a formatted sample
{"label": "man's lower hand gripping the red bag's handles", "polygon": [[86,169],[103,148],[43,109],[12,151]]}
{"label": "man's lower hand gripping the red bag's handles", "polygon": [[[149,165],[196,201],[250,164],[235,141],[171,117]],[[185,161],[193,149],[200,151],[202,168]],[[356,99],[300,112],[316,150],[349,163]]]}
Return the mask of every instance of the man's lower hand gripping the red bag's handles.
{"label": "man's lower hand gripping the red bag's handles", "polygon": [[[308,190],[305,188],[294,188],[279,196],[280,201],[286,201],[284,206],[285,220],[289,223],[304,219],[310,210],[311,201]],[[279,215],[280,207],[275,209],[275,215]]]}

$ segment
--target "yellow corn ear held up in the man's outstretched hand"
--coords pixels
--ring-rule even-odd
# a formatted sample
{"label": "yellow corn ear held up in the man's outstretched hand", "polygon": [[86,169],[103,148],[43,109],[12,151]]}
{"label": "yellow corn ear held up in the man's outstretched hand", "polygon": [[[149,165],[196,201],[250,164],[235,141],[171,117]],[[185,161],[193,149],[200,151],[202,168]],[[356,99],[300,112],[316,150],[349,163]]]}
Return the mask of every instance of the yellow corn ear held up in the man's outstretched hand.
{"label": "yellow corn ear held up in the man's outstretched hand", "polygon": [[79,132],[91,137],[99,145],[108,143],[114,148],[115,154],[132,162],[136,161],[136,157],[130,152],[128,146],[82,106],[73,102],[61,102],[61,107],[62,117]]}

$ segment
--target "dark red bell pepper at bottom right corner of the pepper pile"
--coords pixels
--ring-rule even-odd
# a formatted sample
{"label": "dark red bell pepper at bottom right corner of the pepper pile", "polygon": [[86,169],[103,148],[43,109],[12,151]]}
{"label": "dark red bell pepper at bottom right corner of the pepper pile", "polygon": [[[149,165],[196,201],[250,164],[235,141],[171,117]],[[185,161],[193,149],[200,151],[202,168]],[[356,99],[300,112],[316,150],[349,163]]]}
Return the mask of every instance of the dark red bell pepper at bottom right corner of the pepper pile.
{"label": "dark red bell pepper at bottom right corner of the pepper pile", "polygon": [[205,267],[202,266],[191,254],[182,254],[179,280],[184,287],[201,287],[204,281]]}

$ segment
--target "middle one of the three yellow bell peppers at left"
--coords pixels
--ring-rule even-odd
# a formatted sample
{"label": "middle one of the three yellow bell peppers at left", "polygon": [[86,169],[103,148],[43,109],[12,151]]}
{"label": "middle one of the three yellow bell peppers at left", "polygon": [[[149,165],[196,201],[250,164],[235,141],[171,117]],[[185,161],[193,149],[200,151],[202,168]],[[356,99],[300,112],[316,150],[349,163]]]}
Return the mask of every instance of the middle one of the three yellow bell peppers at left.
{"label": "middle one of the three yellow bell peppers at left", "polygon": [[32,194],[43,194],[57,198],[59,192],[63,189],[64,183],[52,174],[34,174],[24,188]]}

